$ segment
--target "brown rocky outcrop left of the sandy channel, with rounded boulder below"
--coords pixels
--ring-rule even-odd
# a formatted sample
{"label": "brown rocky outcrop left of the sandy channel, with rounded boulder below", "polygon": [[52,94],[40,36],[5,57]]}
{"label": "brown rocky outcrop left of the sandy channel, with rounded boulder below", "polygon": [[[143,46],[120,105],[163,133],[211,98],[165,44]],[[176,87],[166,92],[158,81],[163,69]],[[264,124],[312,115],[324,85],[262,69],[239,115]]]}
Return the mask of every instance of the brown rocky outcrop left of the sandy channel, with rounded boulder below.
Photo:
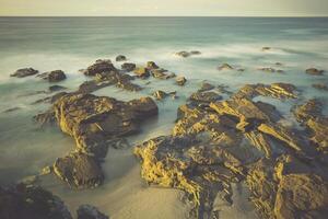
{"label": "brown rocky outcrop left of the sandy channel, with rounded boulder below", "polygon": [[60,129],[75,139],[77,148],[54,164],[54,172],[71,187],[87,188],[102,184],[101,161],[119,138],[139,131],[140,124],[157,115],[150,97],[129,102],[106,96],[66,93],[52,108],[36,117],[56,120]]}

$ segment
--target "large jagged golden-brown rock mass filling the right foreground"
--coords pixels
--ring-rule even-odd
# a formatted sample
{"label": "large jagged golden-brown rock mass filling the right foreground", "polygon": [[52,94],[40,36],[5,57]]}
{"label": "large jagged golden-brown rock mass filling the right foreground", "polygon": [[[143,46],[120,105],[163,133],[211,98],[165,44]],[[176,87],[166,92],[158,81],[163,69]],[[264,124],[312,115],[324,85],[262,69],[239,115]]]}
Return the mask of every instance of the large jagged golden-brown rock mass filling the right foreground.
{"label": "large jagged golden-brown rock mass filling the right foreground", "polygon": [[300,134],[278,123],[284,118],[273,105],[254,101],[258,95],[296,99],[295,87],[248,84],[227,100],[210,87],[204,90],[178,108],[172,135],[136,147],[142,177],[185,191],[195,204],[191,214],[199,218],[219,217],[214,200],[232,205],[232,183],[242,182],[262,218],[324,218],[327,168],[318,160],[326,157],[311,141],[327,146],[327,125],[316,119],[314,126],[308,115],[317,112],[304,110],[302,120],[309,117],[314,134]]}

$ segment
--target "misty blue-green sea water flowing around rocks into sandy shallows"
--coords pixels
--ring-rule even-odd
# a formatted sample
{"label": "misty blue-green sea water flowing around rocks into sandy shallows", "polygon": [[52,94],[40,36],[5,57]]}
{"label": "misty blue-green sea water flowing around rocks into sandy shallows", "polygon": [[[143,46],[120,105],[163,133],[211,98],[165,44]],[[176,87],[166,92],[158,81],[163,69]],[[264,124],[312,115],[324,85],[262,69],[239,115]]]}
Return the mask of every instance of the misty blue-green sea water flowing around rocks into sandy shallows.
{"label": "misty blue-green sea water flowing around rocks into sandy shallows", "polygon": [[[271,47],[262,51],[265,46]],[[199,50],[189,58],[175,56],[180,50]],[[173,80],[138,81],[145,87],[138,93],[117,88],[101,89],[94,94],[128,101],[150,95],[156,90],[177,91],[178,99],[157,102],[160,115],[142,125],[139,135],[129,137],[131,146],[153,137],[168,135],[177,107],[197,91],[202,81],[227,85],[234,92],[246,83],[289,82],[297,87],[298,100],[257,100],[274,104],[294,123],[290,110],[312,97],[328,103],[328,92],[312,88],[328,84],[324,76],[305,74],[315,67],[328,70],[327,18],[0,18],[0,185],[34,175],[74,148],[71,137],[56,126],[33,122],[33,116],[49,104],[32,104],[49,94],[49,83],[35,77],[10,78],[19,68],[33,67],[40,72],[61,69],[68,79],[57,84],[74,91],[85,80],[79,70],[96,59],[115,60],[125,55],[129,61],[144,66],[155,61],[162,68],[188,79],[186,87]],[[245,71],[218,71],[230,64]],[[277,66],[281,62],[282,66]],[[115,62],[119,68],[120,64]],[[269,73],[258,68],[272,67],[284,73]],[[17,111],[3,111],[19,107]],[[327,114],[325,106],[325,114]],[[40,184],[60,196],[74,211],[81,204],[92,204],[113,218],[184,218],[189,205],[181,201],[179,191],[149,187],[140,177],[140,166],[132,147],[109,149],[103,164],[105,183],[96,189],[72,191],[49,175]],[[245,203],[245,193],[233,207],[224,209],[224,218],[253,218],[254,206]],[[248,214],[246,214],[248,212]]]}

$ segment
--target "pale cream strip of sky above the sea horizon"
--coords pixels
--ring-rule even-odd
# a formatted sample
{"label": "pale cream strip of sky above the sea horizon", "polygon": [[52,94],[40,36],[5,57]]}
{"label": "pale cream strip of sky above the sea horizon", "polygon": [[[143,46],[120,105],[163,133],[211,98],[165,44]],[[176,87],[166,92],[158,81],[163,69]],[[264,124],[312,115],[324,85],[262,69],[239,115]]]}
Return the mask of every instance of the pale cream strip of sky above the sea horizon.
{"label": "pale cream strip of sky above the sea horizon", "polygon": [[0,0],[0,15],[328,16],[328,0]]}

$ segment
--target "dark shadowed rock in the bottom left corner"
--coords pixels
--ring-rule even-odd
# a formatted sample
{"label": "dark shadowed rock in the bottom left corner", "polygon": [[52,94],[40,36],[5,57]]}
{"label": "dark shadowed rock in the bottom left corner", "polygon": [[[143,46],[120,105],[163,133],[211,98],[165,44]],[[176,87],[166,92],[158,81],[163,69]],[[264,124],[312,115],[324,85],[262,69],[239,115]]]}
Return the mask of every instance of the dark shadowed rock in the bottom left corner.
{"label": "dark shadowed rock in the bottom left corner", "polygon": [[0,187],[1,219],[72,219],[65,204],[39,186]]}

